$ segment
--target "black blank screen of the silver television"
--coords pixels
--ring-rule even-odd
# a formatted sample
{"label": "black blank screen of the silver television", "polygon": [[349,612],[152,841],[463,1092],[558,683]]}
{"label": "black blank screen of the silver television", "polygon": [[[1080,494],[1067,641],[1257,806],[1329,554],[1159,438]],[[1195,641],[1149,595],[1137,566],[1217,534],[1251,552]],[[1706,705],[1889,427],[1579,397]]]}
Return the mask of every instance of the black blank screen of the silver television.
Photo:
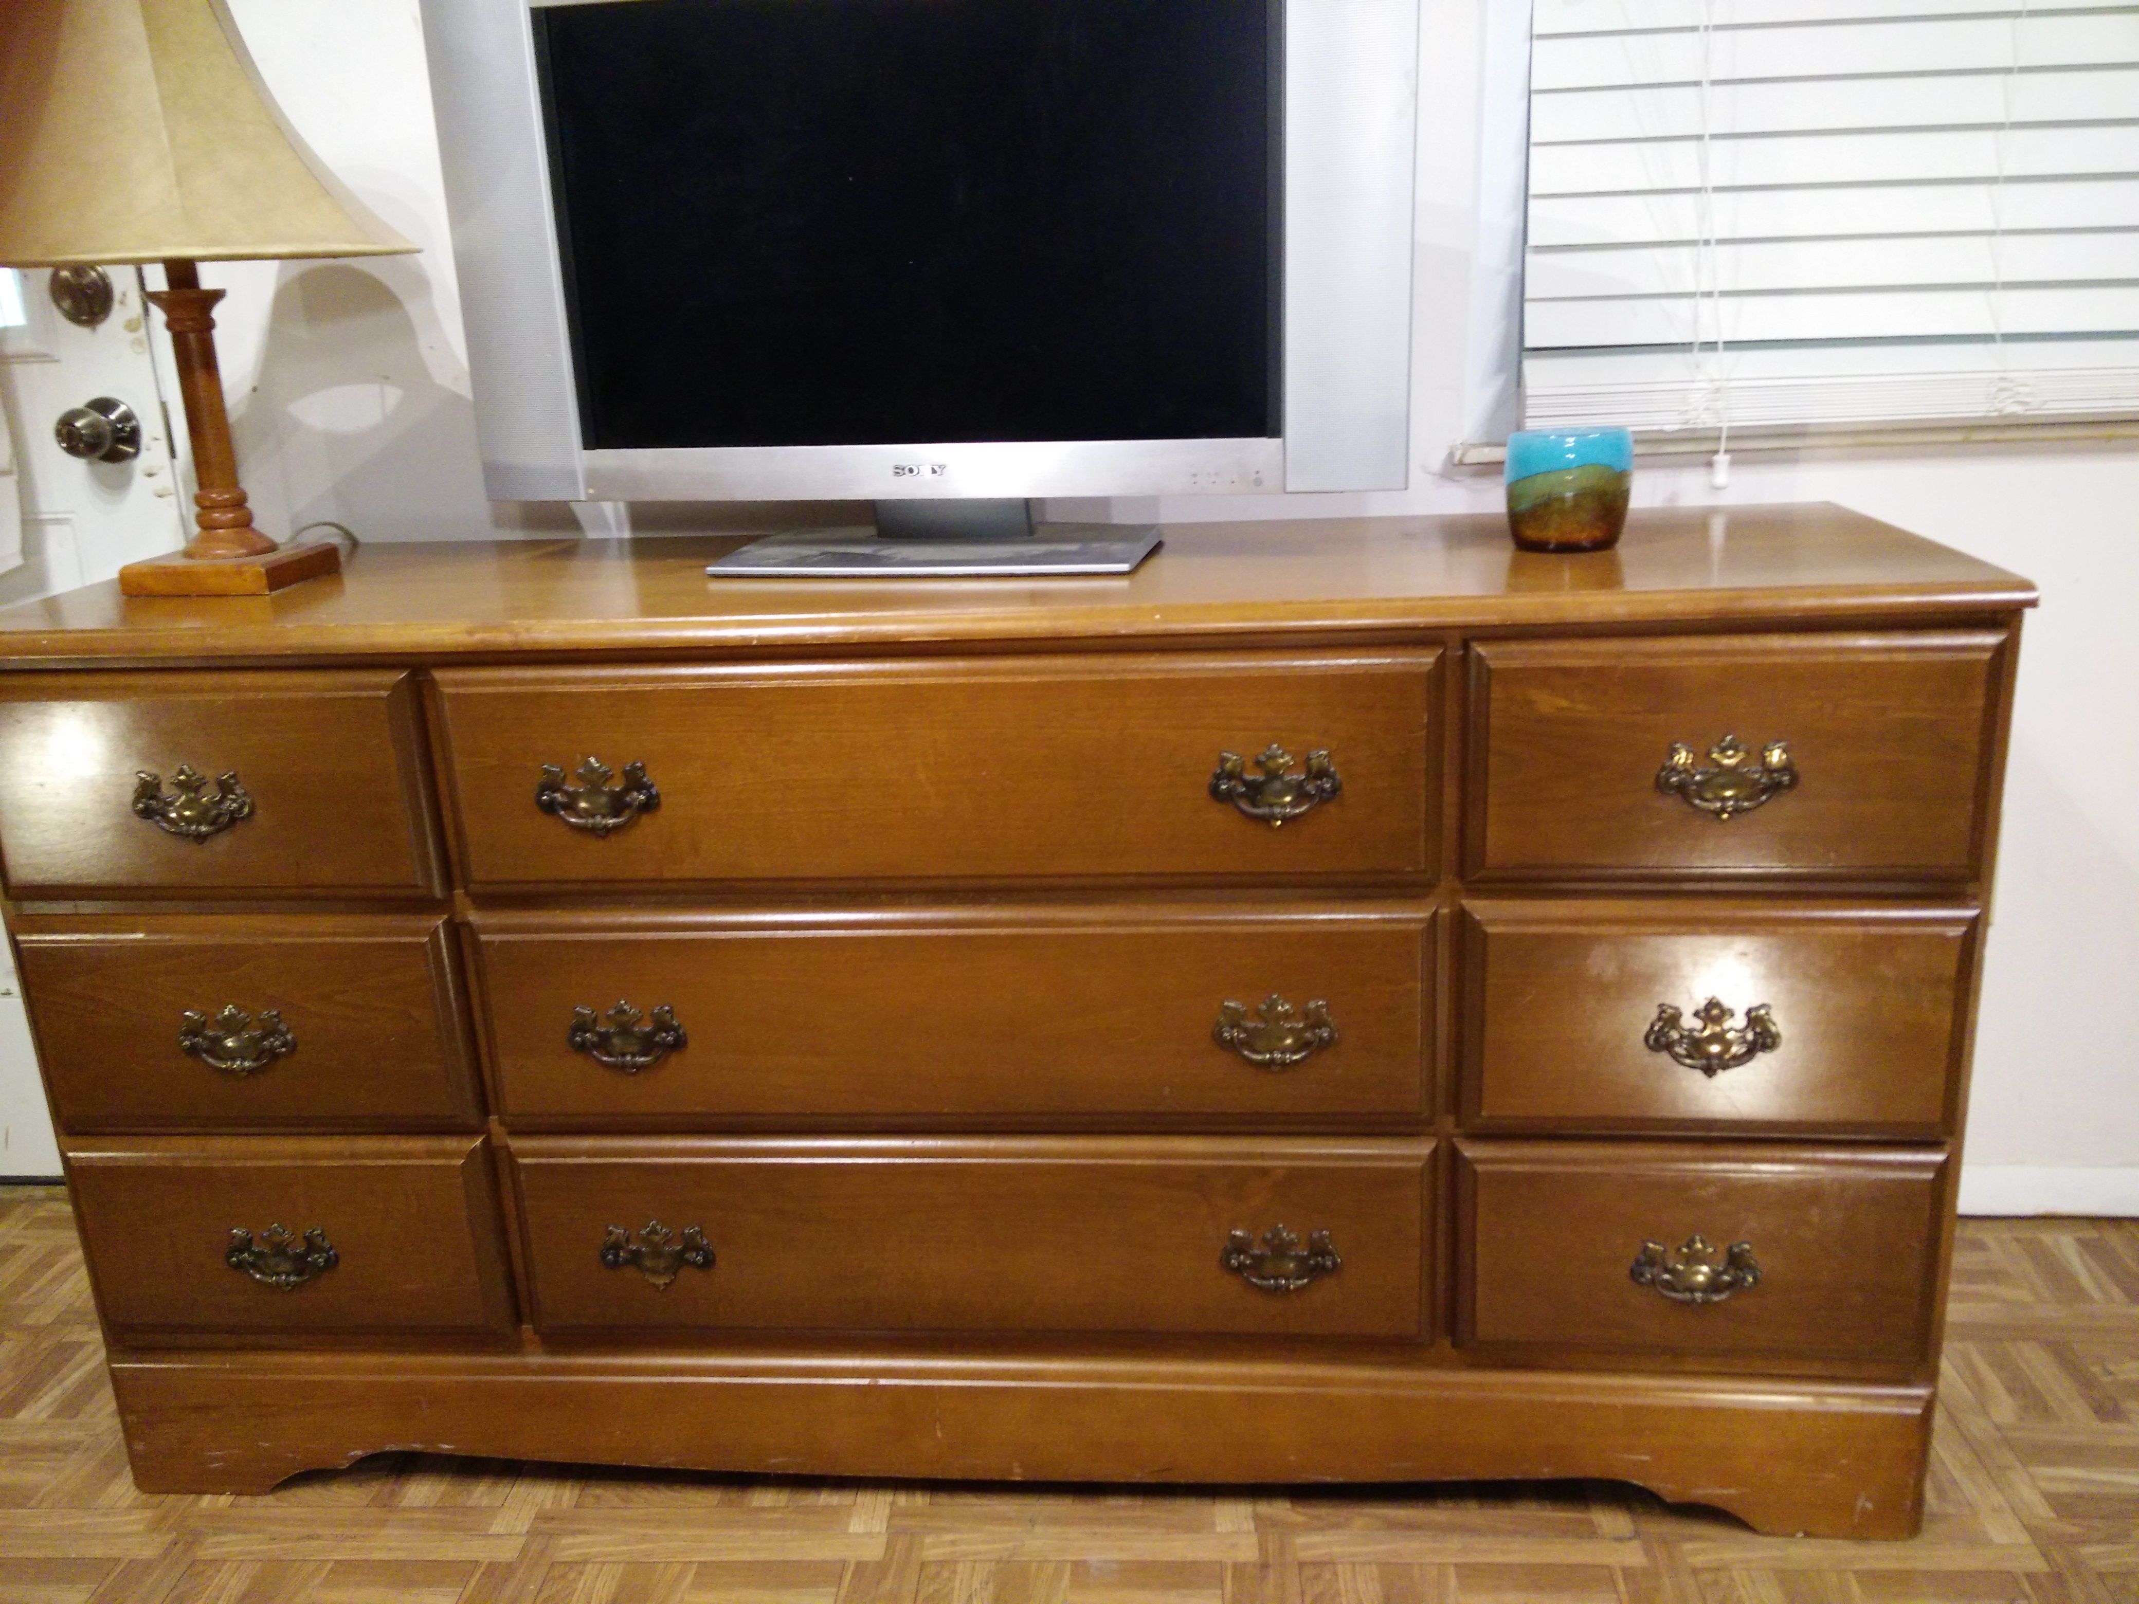
{"label": "black blank screen of the silver television", "polygon": [[1279,434],[1275,6],[535,11],[584,445]]}

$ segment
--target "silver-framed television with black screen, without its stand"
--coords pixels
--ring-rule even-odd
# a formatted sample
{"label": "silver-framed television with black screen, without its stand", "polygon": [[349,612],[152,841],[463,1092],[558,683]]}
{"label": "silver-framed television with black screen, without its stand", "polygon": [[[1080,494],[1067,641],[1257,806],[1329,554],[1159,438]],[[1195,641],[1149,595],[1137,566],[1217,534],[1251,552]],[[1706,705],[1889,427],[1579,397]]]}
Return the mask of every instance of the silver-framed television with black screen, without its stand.
{"label": "silver-framed television with black screen, without its stand", "polygon": [[501,500],[1407,481],[1416,0],[424,0]]}

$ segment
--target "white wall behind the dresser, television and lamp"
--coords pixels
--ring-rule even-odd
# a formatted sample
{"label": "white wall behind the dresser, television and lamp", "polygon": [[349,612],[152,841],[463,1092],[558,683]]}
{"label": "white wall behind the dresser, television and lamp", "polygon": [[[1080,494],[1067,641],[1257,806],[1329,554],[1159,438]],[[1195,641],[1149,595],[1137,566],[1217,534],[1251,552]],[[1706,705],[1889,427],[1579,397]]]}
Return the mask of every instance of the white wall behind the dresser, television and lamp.
{"label": "white wall behind the dresser, television and lamp", "polygon": [[[1412,490],[1168,500],[1164,518],[1491,509],[1463,432],[1478,235],[1480,19],[1422,0]],[[366,539],[571,528],[481,496],[417,0],[233,0],[314,150],[421,257],[225,269],[222,353],[263,526]],[[479,293],[479,289],[471,291]],[[2021,652],[1964,1204],[2139,1213],[2139,447],[1745,456],[1636,473],[1643,505],[1837,500],[2043,586]],[[1151,507],[1123,507],[1151,515]]]}

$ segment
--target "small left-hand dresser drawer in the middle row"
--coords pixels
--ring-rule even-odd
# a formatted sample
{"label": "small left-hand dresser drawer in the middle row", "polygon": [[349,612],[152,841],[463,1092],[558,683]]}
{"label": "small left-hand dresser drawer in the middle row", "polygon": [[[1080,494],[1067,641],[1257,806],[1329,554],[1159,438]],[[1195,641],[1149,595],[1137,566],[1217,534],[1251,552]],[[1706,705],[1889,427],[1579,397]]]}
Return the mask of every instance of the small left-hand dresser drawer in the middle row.
{"label": "small left-hand dresser drawer in the middle row", "polygon": [[19,917],[15,943],[68,1131],[481,1125],[443,920]]}

